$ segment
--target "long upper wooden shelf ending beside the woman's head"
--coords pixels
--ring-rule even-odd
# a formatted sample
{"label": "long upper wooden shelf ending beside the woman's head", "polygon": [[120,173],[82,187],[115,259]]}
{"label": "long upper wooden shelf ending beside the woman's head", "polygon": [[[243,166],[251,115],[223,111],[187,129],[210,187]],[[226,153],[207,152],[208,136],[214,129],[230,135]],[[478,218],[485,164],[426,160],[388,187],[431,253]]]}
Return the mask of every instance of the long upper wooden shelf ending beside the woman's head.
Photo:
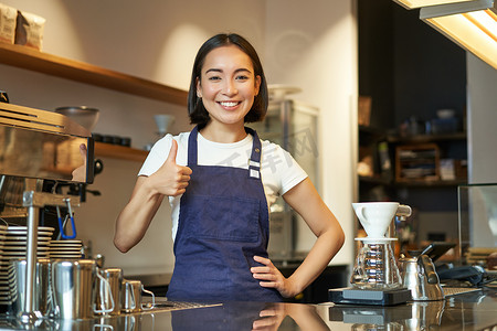
{"label": "long upper wooden shelf ending beside the woman's head", "polygon": [[187,105],[186,90],[21,45],[0,42],[0,63],[160,102]]}

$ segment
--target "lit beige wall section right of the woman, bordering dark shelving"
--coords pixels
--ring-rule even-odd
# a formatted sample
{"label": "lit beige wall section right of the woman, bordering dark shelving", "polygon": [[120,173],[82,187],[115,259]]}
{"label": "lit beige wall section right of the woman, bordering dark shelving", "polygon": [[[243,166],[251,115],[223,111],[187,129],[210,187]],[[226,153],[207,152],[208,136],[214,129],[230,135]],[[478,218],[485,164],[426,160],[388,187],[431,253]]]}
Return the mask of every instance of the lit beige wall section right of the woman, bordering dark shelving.
{"label": "lit beige wall section right of the woman, bordering dark shelving", "polygon": [[[353,258],[353,169],[357,154],[357,31],[353,1],[272,0],[266,13],[266,75],[269,82],[303,88],[292,96],[320,109],[318,138],[321,193],[346,231],[332,264]],[[298,224],[297,250],[314,235]]]}

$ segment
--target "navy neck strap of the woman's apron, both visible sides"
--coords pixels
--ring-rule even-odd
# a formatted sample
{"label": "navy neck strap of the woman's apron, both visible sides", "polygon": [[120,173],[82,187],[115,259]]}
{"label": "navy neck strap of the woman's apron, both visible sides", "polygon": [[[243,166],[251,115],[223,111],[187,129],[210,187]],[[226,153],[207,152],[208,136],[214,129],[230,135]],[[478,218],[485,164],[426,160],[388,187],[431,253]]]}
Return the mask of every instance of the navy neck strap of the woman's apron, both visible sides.
{"label": "navy neck strap of the woman's apron, both visible sides", "polygon": [[[261,151],[262,143],[258,139],[257,132],[254,129],[245,127],[245,131],[253,137],[252,141],[252,153],[248,159],[248,177],[252,179],[261,178]],[[188,138],[188,166],[198,164],[198,143],[197,136],[199,134],[199,128],[195,126]]]}

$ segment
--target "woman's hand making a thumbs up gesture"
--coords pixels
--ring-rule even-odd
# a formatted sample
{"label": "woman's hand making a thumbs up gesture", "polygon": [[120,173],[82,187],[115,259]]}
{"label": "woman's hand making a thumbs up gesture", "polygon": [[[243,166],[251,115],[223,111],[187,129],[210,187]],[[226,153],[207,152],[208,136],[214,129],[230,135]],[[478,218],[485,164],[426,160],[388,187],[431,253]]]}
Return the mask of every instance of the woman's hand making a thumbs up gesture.
{"label": "woman's hand making a thumbs up gesture", "polygon": [[172,139],[169,156],[163,164],[149,177],[157,191],[163,195],[177,196],[184,193],[190,181],[191,169],[178,166],[176,156],[178,154],[178,142]]}

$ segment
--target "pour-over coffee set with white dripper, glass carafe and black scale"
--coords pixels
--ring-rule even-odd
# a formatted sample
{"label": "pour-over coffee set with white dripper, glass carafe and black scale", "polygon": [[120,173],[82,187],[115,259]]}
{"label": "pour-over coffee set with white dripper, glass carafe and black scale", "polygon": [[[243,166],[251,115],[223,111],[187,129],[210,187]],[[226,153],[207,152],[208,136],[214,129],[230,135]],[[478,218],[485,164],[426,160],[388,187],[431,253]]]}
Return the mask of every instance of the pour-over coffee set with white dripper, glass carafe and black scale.
{"label": "pour-over coffee set with white dripper, glass carafe and black scale", "polygon": [[411,300],[411,291],[402,286],[391,237],[393,217],[405,220],[411,207],[398,202],[352,203],[367,237],[356,238],[360,248],[356,257],[349,288],[329,290],[335,303],[393,306]]}

